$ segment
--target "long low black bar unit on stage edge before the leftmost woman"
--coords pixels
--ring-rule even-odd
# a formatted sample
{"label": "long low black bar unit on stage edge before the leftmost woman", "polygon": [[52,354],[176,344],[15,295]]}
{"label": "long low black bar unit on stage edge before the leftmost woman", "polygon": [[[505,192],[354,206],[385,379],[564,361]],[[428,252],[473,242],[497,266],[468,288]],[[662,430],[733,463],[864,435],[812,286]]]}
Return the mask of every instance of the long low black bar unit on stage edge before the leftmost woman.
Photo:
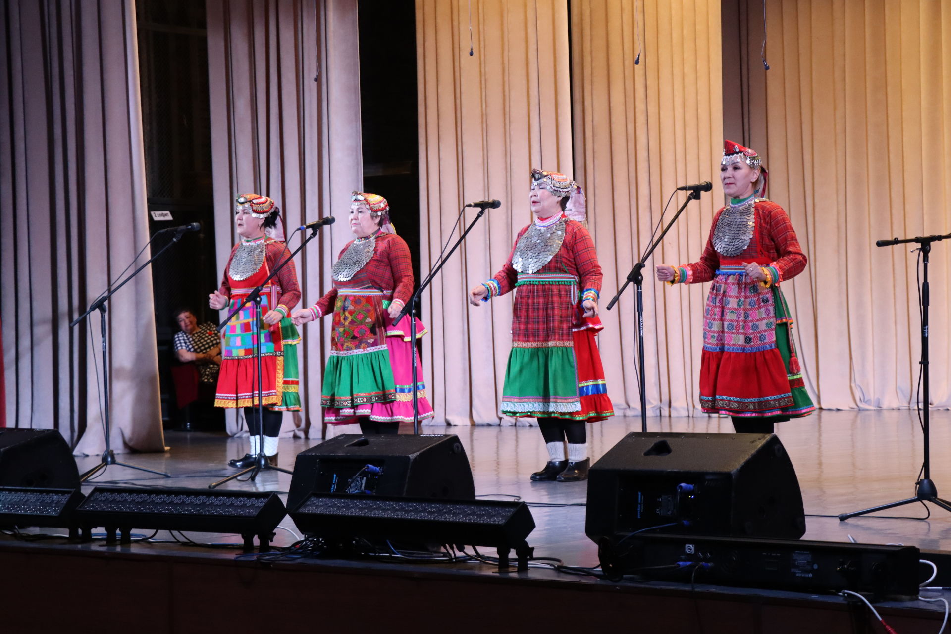
{"label": "long low black bar unit on stage edge before the leftmost woman", "polygon": [[262,552],[287,514],[277,493],[206,489],[96,487],[76,510],[80,526],[106,528],[106,543],[131,541],[132,528],[238,533],[244,550]]}

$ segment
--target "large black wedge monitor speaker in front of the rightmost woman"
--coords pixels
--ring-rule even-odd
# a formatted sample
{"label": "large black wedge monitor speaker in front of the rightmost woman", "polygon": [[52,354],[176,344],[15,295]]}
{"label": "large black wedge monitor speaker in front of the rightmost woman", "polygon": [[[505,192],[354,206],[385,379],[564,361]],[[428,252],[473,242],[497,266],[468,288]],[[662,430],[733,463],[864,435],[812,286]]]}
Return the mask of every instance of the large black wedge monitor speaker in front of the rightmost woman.
{"label": "large black wedge monitor speaker in front of the rightmost woman", "polygon": [[775,435],[631,432],[592,465],[585,532],[799,539],[796,471]]}

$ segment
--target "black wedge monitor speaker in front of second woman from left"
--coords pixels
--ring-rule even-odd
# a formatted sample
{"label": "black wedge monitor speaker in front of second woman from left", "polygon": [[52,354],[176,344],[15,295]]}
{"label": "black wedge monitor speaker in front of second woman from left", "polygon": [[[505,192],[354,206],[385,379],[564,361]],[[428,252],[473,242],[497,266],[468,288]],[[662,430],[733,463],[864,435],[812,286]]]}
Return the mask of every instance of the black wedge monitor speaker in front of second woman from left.
{"label": "black wedge monitor speaker in front of second woman from left", "polygon": [[476,487],[456,435],[344,433],[298,454],[287,509],[311,493],[472,500]]}

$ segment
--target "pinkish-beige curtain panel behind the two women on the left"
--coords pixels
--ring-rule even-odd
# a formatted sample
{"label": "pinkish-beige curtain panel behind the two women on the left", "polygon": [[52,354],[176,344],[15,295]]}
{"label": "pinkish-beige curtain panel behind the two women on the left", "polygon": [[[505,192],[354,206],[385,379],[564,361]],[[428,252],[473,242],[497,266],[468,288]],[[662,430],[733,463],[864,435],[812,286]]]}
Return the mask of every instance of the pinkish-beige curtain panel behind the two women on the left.
{"label": "pinkish-beige curtain panel behind the two women on the left", "polygon": [[[294,228],[336,214],[344,221],[295,259],[297,308],[310,305],[330,288],[330,265],[352,237],[345,214],[362,181],[357,2],[207,0],[206,7],[219,269],[237,241],[239,193],[278,202],[291,250],[303,238]],[[302,329],[303,411],[284,415],[284,434],[320,437],[329,327],[324,319]],[[228,432],[244,429],[243,414],[230,412]]]}

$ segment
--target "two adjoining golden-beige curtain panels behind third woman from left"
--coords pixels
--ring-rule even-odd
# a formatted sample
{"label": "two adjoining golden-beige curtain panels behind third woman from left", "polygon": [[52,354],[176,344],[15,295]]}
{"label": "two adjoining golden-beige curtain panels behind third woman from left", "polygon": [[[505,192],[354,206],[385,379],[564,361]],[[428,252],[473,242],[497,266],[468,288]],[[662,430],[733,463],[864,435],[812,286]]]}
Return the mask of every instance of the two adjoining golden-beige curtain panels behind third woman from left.
{"label": "two adjoining golden-beige curtain panels behind third woman from left", "polygon": [[[633,289],[613,311],[604,309],[670,192],[714,177],[722,139],[719,3],[638,6],[635,12],[633,2],[576,2],[569,18],[564,0],[476,2],[470,57],[467,4],[417,3],[421,241],[429,242],[423,269],[442,241],[459,234],[459,205],[486,197],[503,202],[426,296],[436,423],[500,421],[512,298],[472,308],[465,296],[495,274],[517,231],[532,221],[532,167],[573,175],[588,193],[589,228],[605,272],[606,329],[599,338],[609,394],[619,412],[637,407]],[[684,196],[671,203],[668,218]],[[692,221],[670,234],[658,260],[699,255],[719,204],[706,198],[691,205]],[[702,290],[664,289],[649,280],[645,294],[650,413],[690,413]]]}

